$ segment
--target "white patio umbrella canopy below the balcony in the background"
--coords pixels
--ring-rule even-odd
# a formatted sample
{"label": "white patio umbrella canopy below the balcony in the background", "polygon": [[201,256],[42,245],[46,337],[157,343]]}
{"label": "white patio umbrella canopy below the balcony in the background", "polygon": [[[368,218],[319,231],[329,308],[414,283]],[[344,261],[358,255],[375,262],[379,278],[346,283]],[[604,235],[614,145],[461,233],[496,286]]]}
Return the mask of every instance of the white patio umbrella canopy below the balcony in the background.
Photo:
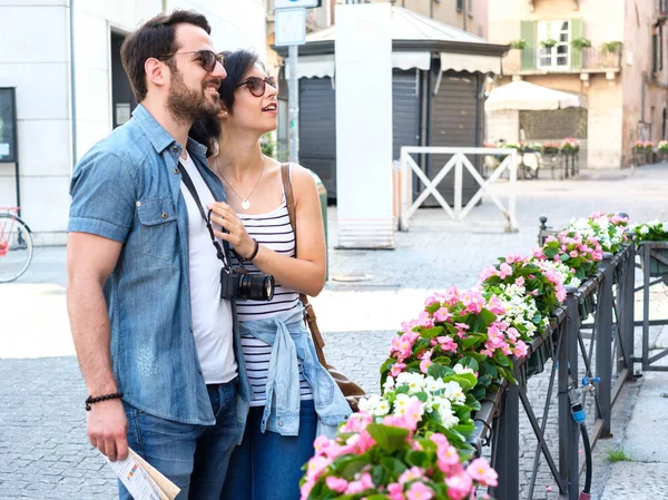
{"label": "white patio umbrella canopy below the balcony in the background", "polygon": [[484,104],[484,109],[485,111],[507,109],[541,111],[580,106],[580,98],[573,94],[519,80],[493,89]]}

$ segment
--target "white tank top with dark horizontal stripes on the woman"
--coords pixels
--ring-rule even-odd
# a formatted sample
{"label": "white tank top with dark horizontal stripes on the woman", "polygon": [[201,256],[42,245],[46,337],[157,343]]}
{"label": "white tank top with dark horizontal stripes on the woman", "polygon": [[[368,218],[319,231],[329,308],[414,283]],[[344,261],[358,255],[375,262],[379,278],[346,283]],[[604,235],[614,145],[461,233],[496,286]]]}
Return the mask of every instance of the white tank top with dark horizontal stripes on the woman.
{"label": "white tank top with dark horizontal stripes on the woman", "polygon": [[[295,256],[295,234],[289,225],[289,215],[287,213],[287,204],[285,194],[283,203],[278,208],[268,214],[262,215],[245,215],[237,214],[248,235],[257,239],[257,243],[273,249],[274,252]],[[238,265],[236,257],[232,256],[233,266]],[[252,263],[244,264],[250,272],[259,271]],[[237,315],[239,321],[264,320],[274,317],[286,311],[292,311],[299,304],[299,295],[289,288],[276,283],[274,297],[268,302],[262,301],[237,301]],[[242,351],[244,352],[244,361],[248,380],[253,388],[253,400],[250,406],[264,406],[266,402],[266,382],[267,371],[269,367],[269,359],[272,355],[272,346],[265,344],[261,340],[255,339],[250,334],[242,334]],[[299,385],[302,400],[312,400],[313,391],[311,385],[304,378],[304,367],[302,361],[299,365]]]}

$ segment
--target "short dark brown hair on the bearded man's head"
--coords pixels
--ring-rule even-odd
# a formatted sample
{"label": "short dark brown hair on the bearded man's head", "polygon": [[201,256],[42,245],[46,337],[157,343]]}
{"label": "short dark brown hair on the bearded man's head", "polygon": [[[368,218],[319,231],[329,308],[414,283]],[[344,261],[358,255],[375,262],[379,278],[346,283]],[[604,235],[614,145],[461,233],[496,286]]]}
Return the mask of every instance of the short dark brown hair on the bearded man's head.
{"label": "short dark brown hair on the bearded man's head", "polygon": [[[137,102],[146,98],[146,60],[151,57],[160,59],[179,49],[176,45],[176,26],[180,23],[195,24],[212,33],[212,27],[203,14],[193,10],[175,10],[169,16],[158,14],[149,19],[122,41],[120,59]],[[171,70],[176,69],[174,61],[167,60],[167,65]]]}

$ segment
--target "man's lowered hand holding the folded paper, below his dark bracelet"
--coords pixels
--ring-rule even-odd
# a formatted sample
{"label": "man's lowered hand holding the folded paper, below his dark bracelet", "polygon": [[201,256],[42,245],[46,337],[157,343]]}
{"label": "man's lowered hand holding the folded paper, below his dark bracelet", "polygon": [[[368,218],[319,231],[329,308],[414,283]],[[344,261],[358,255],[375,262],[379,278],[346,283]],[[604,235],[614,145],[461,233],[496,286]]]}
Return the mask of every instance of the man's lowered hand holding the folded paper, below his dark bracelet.
{"label": "man's lowered hand holding the folded paper, below his dark bracelet", "polygon": [[91,404],[86,420],[90,444],[112,462],[128,457],[128,419],[120,400]]}

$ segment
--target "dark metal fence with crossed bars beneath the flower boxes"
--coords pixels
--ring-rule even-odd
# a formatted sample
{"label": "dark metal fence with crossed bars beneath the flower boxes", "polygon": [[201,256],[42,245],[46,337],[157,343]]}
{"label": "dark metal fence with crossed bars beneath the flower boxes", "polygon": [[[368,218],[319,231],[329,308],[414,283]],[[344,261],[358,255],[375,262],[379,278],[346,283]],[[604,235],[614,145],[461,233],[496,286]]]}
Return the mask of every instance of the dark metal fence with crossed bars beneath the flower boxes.
{"label": "dark metal fence with crossed bars beneath the flower boxes", "polygon": [[[541,244],[552,234],[544,220]],[[572,415],[574,396],[589,410],[584,429],[593,447],[599,438],[610,435],[611,408],[623,383],[632,378],[635,255],[632,242],[615,255],[606,254],[593,276],[569,290],[549,329],[533,340],[527,359],[515,362],[518,384],[488,394],[477,413],[474,444],[479,452],[491,445],[492,465],[499,473],[499,486],[491,493],[498,500],[533,498],[541,459],[559,494],[579,498],[583,463],[579,453],[581,429]],[[591,317],[593,321],[587,323]],[[532,404],[528,382],[548,367],[546,398]],[[531,451],[524,449],[522,453],[524,459],[532,458],[532,468],[521,494],[520,408],[537,440]],[[551,413],[558,421],[557,445],[546,435],[548,420],[554,416]]]}

